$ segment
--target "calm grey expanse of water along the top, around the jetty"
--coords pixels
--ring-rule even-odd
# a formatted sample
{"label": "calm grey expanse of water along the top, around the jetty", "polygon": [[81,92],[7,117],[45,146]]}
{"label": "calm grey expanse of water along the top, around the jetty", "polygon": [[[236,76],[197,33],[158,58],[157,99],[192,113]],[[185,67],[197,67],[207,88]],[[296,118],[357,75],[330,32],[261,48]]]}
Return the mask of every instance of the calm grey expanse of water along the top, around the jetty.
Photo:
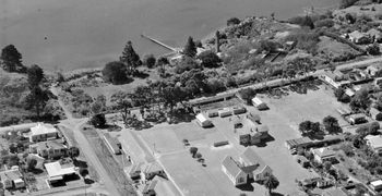
{"label": "calm grey expanse of water along the top, around the jetty", "polygon": [[117,60],[126,41],[141,54],[168,52],[146,34],[182,46],[227,19],[266,15],[286,20],[303,8],[339,0],[0,0],[0,47],[13,44],[26,65],[50,70],[97,68]]}

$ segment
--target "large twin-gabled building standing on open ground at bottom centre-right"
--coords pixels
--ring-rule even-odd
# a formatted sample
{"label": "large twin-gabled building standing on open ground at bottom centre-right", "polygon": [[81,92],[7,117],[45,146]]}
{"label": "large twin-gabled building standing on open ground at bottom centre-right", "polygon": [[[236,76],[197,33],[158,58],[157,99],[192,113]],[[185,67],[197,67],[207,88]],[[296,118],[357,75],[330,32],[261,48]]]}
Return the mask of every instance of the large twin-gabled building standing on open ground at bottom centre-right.
{"label": "large twin-gabled building standing on open ground at bottom centre-right", "polygon": [[227,156],[222,162],[222,170],[235,186],[247,184],[249,180],[261,181],[272,174],[272,169],[252,148],[247,148],[239,157],[239,161]]}

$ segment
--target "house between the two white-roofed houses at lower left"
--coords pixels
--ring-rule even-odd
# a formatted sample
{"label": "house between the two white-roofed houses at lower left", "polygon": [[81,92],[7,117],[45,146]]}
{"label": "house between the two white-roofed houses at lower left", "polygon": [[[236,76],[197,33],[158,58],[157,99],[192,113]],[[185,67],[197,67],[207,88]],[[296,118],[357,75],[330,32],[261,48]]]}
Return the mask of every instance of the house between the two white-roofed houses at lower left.
{"label": "house between the two white-roofed houses at lower left", "polygon": [[46,159],[57,159],[68,154],[68,147],[59,139],[33,144],[29,150]]}

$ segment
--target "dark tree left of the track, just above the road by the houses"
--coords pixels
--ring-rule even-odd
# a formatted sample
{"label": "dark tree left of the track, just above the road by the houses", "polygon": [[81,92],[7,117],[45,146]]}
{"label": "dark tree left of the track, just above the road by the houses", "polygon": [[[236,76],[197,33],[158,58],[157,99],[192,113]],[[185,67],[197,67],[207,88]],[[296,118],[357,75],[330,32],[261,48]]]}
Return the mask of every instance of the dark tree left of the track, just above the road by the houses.
{"label": "dark tree left of the track, just above the road by the houses", "polygon": [[29,94],[25,98],[26,108],[34,108],[37,118],[40,117],[40,112],[45,108],[49,100],[49,95],[47,90],[41,89],[39,86],[35,86],[31,89]]}

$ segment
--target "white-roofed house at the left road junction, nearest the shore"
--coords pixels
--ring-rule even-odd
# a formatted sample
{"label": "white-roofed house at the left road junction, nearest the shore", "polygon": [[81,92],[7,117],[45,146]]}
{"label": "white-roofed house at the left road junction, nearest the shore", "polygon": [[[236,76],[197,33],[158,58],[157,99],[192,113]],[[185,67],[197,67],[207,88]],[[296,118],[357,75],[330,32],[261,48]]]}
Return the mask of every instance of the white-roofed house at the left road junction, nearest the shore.
{"label": "white-roofed house at the left road junction, nearest the shore", "polygon": [[45,142],[45,140],[57,139],[57,138],[59,138],[59,132],[52,125],[37,123],[36,126],[31,127],[31,133],[29,133],[31,143]]}

